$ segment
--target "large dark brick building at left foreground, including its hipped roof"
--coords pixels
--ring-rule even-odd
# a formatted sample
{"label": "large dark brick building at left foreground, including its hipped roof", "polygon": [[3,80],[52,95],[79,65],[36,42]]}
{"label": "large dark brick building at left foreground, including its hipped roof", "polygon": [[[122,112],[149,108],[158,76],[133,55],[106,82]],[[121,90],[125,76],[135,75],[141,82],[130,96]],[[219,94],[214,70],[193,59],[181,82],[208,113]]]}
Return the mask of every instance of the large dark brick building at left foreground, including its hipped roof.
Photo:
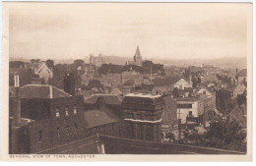
{"label": "large dark brick building at left foreground, including its hipped roof", "polygon": [[10,153],[35,153],[83,138],[83,101],[51,85],[17,87],[10,97]]}

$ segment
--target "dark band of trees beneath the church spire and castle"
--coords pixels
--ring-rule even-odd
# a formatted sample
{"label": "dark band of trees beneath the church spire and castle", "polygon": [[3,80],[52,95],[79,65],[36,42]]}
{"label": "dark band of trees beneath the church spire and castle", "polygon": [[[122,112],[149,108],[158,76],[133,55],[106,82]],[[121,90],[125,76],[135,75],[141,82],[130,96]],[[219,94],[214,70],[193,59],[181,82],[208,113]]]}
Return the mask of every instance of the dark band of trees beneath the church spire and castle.
{"label": "dark band of trees beneath the church spire and castle", "polygon": [[115,65],[115,64],[102,64],[97,73],[99,75],[106,75],[106,74],[121,74],[125,71],[135,71],[139,72],[140,74],[164,74],[163,65],[161,64],[154,64],[152,61],[143,61],[142,66],[137,65]]}

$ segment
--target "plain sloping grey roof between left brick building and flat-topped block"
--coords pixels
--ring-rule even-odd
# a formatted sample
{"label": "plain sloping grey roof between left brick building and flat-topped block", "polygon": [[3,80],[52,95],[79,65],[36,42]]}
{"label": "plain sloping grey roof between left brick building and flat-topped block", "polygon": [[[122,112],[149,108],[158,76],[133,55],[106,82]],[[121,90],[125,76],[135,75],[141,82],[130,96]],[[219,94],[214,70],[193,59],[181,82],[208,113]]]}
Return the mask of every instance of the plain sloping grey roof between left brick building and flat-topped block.
{"label": "plain sloping grey roof between left brick building and flat-topped block", "polygon": [[87,110],[84,113],[84,117],[86,120],[86,128],[94,128],[117,121],[108,116],[104,111],[99,110]]}

